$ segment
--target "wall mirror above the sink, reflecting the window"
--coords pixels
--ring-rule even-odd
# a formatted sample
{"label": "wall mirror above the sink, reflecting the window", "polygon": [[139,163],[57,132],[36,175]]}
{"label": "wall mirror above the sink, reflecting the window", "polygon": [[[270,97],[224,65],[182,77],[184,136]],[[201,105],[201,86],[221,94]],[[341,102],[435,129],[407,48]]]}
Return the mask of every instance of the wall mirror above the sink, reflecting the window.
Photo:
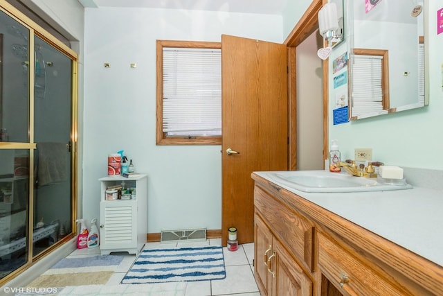
{"label": "wall mirror above the sink, reflecting the window", "polygon": [[347,1],[350,119],[428,105],[424,1]]}

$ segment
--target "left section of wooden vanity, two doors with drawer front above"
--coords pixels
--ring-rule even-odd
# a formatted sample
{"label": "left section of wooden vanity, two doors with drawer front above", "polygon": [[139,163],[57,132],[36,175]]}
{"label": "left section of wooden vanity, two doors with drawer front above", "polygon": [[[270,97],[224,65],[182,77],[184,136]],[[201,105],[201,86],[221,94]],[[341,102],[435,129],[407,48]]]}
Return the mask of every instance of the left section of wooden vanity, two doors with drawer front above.
{"label": "left section of wooden vanity, two doors with drawer front above", "polygon": [[[254,275],[260,293],[268,296],[312,295],[312,281],[305,272],[310,262],[299,263],[305,258],[304,245],[308,245],[308,249],[312,245],[312,225],[300,217],[293,217],[289,209],[275,203],[271,195],[259,187],[255,187],[255,197]],[[280,209],[282,215],[276,216],[275,209]],[[281,243],[298,239],[304,242],[294,244],[289,250]]]}

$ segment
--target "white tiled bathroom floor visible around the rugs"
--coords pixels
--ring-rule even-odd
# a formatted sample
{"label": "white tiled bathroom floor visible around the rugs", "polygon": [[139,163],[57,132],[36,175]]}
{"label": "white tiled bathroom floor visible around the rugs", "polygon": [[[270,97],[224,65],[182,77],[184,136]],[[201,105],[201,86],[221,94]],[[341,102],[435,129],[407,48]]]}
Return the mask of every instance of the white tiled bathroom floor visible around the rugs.
{"label": "white tiled bathroom floor visible around the rugs", "polygon": [[[192,243],[147,243],[147,247],[175,247],[181,245],[221,245],[220,238],[208,239],[204,242]],[[226,267],[226,278],[215,281],[192,281],[186,286],[186,296],[212,296],[212,295],[236,295],[236,296],[260,296],[257,284],[253,276],[254,244],[239,245],[235,252],[230,252],[224,247],[224,261]],[[100,250],[81,249],[75,250],[67,258],[78,256],[96,256]],[[127,253],[112,253],[124,256],[122,263],[118,266],[114,275],[109,279],[107,285],[118,285],[131,268],[136,256]]]}

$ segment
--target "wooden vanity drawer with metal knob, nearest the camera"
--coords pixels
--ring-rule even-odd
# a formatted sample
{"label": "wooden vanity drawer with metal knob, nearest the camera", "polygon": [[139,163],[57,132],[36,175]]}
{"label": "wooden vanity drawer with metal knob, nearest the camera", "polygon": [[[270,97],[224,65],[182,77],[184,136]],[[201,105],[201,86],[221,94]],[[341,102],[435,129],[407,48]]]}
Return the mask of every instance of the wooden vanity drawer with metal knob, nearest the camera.
{"label": "wooden vanity drawer with metal knob, nearest the camera", "polygon": [[321,233],[318,233],[318,266],[345,295],[408,295]]}

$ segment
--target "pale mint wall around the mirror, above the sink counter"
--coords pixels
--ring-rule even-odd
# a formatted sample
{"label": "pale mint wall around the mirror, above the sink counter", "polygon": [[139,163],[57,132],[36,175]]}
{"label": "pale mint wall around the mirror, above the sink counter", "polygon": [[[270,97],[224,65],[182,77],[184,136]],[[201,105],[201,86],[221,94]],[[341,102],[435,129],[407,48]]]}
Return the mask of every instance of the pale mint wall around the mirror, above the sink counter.
{"label": "pale mint wall around the mirror, above the sink counter", "polygon": [[[377,116],[334,125],[334,89],[329,75],[329,139],[338,139],[342,157],[354,158],[354,148],[372,148],[372,159],[396,166],[443,170],[443,34],[437,35],[436,12],[443,1],[428,1],[429,105],[417,110]],[[395,38],[395,36],[392,36]],[[343,44],[334,49],[332,60],[346,52]]]}

